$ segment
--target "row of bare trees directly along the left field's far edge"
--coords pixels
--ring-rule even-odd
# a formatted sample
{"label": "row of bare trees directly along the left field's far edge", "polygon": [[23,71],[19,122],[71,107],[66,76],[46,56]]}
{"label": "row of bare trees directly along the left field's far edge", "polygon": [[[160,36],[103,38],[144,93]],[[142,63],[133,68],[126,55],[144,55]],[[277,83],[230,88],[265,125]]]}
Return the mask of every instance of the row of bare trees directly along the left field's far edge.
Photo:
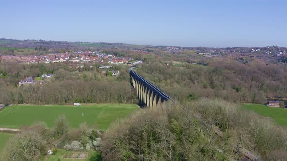
{"label": "row of bare trees directly along the left field's far edge", "polygon": [[14,90],[1,88],[1,103],[72,104],[137,103],[128,82],[54,81],[45,85],[24,85]]}

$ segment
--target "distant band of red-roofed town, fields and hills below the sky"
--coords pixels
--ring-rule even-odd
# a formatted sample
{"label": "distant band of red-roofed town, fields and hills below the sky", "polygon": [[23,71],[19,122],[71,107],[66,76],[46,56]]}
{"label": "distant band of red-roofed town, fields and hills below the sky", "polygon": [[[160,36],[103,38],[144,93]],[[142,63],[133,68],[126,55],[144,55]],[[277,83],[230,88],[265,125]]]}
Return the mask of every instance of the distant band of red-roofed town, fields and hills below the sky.
{"label": "distant band of red-roofed town, fields and hills below the sky", "polygon": [[[109,64],[135,65],[138,61],[132,57],[121,57],[103,51],[126,51],[127,53],[149,54],[197,54],[202,57],[227,57],[239,61],[260,59],[266,62],[287,62],[287,47],[276,45],[267,47],[178,47],[131,45],[124,43],[89,43],[46,40],[0,39],[0,61],[25,63],[70,62],[72,67],[83,62],[103,62]],[[74,63],[74,64],[72,64]]]}

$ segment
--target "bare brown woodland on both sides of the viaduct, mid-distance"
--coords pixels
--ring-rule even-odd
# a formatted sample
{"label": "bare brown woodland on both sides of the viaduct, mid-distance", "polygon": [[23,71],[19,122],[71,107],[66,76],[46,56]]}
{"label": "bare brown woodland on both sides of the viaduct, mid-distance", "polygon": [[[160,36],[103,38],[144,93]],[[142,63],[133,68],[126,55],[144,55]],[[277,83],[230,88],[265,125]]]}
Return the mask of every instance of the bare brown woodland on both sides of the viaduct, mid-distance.
{"label": "bare brown woodland on both sides of the viaduct, mid-distance", "polygon": [[[117,56],[143,60],[136,69],[172,97],[184,101],[200,97],[264,104],[268,99],[286,100],[287,69],[284,65],[260,60],[242,62],[228,58],[205,58],[194,52],[168,54],[119,49],[103,50]],[[90,64],[89,64],[90,65]],[[99,64],[72,69],[66,64],[0,63],[1,103],[135,103],[129,85],[128,67],[114,66],[120,76],[100,74]],[[27,76],[55,74],[44,85],[18,88]],[[110,83],[112,82],[112,83]]]}

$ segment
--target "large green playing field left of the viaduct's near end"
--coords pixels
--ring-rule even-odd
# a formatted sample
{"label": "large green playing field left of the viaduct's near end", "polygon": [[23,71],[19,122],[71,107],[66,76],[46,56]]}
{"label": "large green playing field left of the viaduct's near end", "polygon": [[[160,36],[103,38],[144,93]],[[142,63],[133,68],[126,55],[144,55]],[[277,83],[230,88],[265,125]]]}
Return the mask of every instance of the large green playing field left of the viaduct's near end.
{"label": "large green playing field left of the viaduct's near end", "polygon": [[44,121],[51,128],[56,118],[65,115],[71,127],[78,127],[82,122],[87,122],[105,130],[111,122],[124,118],[137,109],[139,107],[135,104],[13,105],[0,112],[0,127],[19,128],[21,125],[29,126],[35,121]]}

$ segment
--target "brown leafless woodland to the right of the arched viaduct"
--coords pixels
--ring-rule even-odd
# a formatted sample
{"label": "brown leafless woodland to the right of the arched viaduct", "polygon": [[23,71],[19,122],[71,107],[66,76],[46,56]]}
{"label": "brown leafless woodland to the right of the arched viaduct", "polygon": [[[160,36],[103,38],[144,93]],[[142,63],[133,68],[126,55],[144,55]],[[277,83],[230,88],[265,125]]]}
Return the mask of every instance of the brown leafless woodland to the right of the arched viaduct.
{"label": "brown leafless woodland to the right of the arched viaduct", "polygon": [[138,72],[181,101],[200,97],[261,103],[287,98],[287,70],[276,64],[228,59],[199,64],[143,64]]}

